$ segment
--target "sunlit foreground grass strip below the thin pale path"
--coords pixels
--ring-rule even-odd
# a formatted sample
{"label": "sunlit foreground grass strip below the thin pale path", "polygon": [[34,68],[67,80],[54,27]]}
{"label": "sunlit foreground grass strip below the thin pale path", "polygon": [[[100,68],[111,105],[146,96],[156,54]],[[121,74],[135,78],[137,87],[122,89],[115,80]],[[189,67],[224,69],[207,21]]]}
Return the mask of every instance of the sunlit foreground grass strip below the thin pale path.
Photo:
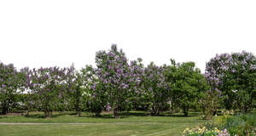
{"label": "sunlit foreground grass strip below the thin pale path", "polygon": [[165,136],[181,135],[185,127],[198,123],[91,123],[55,125],[0,125],[0,135],[12,136]]}

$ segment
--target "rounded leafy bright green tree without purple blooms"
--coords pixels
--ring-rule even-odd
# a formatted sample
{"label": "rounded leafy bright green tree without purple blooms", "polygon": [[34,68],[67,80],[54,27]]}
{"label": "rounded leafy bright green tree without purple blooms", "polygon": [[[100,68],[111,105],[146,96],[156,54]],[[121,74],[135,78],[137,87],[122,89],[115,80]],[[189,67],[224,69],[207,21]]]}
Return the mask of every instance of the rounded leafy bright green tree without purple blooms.
{"label": "rounded leafy bright green tree without purple blooms", "polygon": [[[184,116],[188,116],[191,106],[198,105],[202,94],[207,89],[207,82],[194,62],[176,64],[166,68],[166,80],[171,88],[172,106],[183,109]],[[175,108],[174,107],[174,108]]]}

